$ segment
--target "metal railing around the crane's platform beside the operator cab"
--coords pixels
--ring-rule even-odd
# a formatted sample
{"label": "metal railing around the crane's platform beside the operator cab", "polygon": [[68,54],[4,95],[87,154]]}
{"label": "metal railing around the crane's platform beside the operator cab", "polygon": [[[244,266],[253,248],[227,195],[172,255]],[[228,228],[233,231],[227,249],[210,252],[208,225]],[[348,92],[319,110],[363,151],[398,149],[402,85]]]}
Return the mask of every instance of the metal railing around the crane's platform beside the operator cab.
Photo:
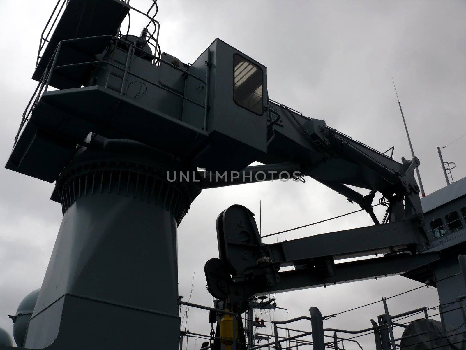
{"label": "metal railing around the crane's platform beside the operator cab", "polygon": [[[119,67],[117,65],[115,65],[114,63],[111,63],[109,61],[105,61],[105,60],[96,60],[96,61],[89,61],[89,62],[82,62],[82,63],[72,63],[72,64],[64,64],[64,65],[59,65],[57,66],[56,65],[56,62],[57,62],[57,58],[59,56],[59,53],[60,53],[60,50],[62,48],[63,45],[65,44],[68,44],[68,43],[72,43],[72,42],[80,42],[80,41],[85,41],[85,40],[96,40],[96,39],[102,39],[102,38],[108,38],[109,39],[109,42],[110,41],[114,41],[114,45],[115,45],[115,48],[117,47],[117,42],[122,42],[124,43],[127,47],[128,47],[128,54],[127,54],[127,59],[126,59],[126,65],[125,65],[125,68],[122,68],[122,67]],[[205,91],[205,100],[204,100],[204,104],[201,104],[199,102],[196,102],[194,100],[192,100],[191,98],[187,98],[175,91],[172,91],[166,87],[164,87],[163,85],[160,85],[156,82],[153,82],[149,79],[146,79],[144,77],[141,77],[133,72],[131,72],[129,70],[129,62],[130,62],[130,58],[131,56],[134,55],[135,51],[139,51],[141,52],[144,56],[147,56],[147,57],[150,57],[152,60],[158,62],[159,64],[160,63],[164,63],[168,66],[170,66],[171,68],[175,69],[175,70],[178,70],[180,72],[183,73],[183,76],[184,77],[187,77],[187,76],[190,76],[196,80],[198,80],[200,83],[202,83],[203,85],[203,88],[204,88],[204,91]],[[197,76],[195,76],[194,74],[186,71],[186,70],[183,70],[175,65],[173,65],[172,63],[170,62],[167,62],[165,61],[164,59],[160,58],[160,57],[157,57],[155,55],[152,55],[150,54],[149,52],[147,51],[144,51],[144,49],[142,48],[139,48],[137,47],[135,44],[133,44],[132,42],[128,42],[128,41],[125,41],[124,39],[122,38],[119,38],[119,37],[116,37],[116,36],[113,36],[113,35],[98,35],[98,36],[91,36],[91,37],[86,37],[86,38],[76,38],[76,39],[69,39],[69,40],[62,40],[61,42],[58,43],[58,46],[56,47],[55,49],[55,52],[52,56],[52,59],[50,60],[46,70],[44,71],[40,81],[39,81],[39,84],[37,84],[37,87],[36,89],[34,90],[34,93],[33,93],[33,96],[30,98],[27,106],[26,106],[26,109],[24,110],[23,114],[22,114],[22,118],[21,118],[21,123],[20,123],[20,127],[18,129],[18,132],[16,133],[16,136],[14,138],[14,144],[16,144],[16,142],[18,141],[18,138],[21,134],[21,131],[22,129],[24,128],[26,122],[29,120],[30,118],[30,115],[31,113],[34,111],[34,108],[35,106],[38,104],[42,94],[46,91],[48,91],[48,87],[50,85],[50,81],[51,81],[51,78],[53,76],[53,73],[55,70],[60,70],[60,69],[64,69],[64,68],[72,68],[72,67],[80,67],[80,66],[86,66],[86,65],[97,65],[97,64],[107,64],[113,68],[116,68],[117,70],[121,70],[123,71],[123,80],[122,80],[122,84],[121,84],[121,87],[120,87],[120,90],[117,91],[120,96],[124,96],[126,94],[126,91],[128,89],[128,85],[125,86],[125,80],[127,79],[128,76],[132,76],[132,77],[135,77],[137,79],[140,79],[148,84],[151,84],[157,88],[160,88],[164,91],[167,91],[175,96],[178,96],[179,98],[182,98],[184,99],[185,101],[188,101],[194,105],[197,105],[201,108],[204,109],[204,130],[206,128],[206,118],[207,118],[207,110],[208,110],[208,85],[207,85],[207,81],[208,81],[208,78],[209,78],[209,67],[207,66],[207,73],[206,73],[206,80],[202,79],[202,78],[199,78]],[[107,75],[107,78],[106,78],[106,82],[105,82],[105,88],[108,87],[108,81],[110,79],[110,72],[109,74]]]}

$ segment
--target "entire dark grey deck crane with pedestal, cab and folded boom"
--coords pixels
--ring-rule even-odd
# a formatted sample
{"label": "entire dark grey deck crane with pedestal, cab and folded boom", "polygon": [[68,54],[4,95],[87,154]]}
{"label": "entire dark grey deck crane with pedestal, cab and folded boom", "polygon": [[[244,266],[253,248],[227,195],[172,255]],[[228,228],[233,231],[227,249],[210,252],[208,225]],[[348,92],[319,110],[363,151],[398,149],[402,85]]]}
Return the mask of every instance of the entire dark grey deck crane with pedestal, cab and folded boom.
{"label": "entire dark grey deck crane with pedestal, cab and folded boom", "polygon": [[[149,20],[141,34],[119,30],[129,13]],[[262,180],[312,177],[359,204],[375,225],[261,245],[249,210],[225,210],[220,259],[206,264],[206,275],[209,291],[231,296],[236,312],[260,292],[439,259],[417,254],[427,238],[416,157],[399,163],[275,103],[267,68],[219,39],[192,64],[162,52],[154,16],[128,1],[58,0],[48,22],[55,28],[42,33],[39,84],[6,168],[55,182],[51,199],[63,220],[25,348],[176,349],[178,224],[202,189],[258,181],[251,174],[259,172]],[[263,165],[249,166],[254,161]],[[169,180],[180,172],[194,178]],[[388,208],[382,222],[372,209],[376,192]],[[375,253],[385,257],[334,264]],[[287,265],[296,271],[281,273]]]}

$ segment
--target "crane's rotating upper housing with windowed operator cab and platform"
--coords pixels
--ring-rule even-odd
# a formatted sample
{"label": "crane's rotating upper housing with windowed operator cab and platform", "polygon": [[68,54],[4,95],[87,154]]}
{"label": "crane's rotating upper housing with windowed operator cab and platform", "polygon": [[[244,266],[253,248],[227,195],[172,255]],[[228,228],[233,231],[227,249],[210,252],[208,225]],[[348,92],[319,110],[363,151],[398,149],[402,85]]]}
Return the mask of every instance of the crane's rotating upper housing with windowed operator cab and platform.
{"label": "crane's rotating upper housing with windowed operator cab and platform", "polygon": [[220,39],[192,64],[154,56],[146,35],[56,43],[34,77],[59,90],[38,96],[7,168],[53,182],[89,133],[211,171],[239,171],[267,151],[265,66]]}

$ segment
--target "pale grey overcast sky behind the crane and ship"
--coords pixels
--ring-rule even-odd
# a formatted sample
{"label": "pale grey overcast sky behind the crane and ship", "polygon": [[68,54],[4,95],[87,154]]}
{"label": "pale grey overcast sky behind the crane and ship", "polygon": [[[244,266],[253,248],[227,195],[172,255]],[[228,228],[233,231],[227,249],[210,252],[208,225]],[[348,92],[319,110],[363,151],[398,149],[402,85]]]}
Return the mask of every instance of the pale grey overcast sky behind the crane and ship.
{"label": "pale grey overcast sky behind the crane and ship", "polygon": [[[2,67],[0,160],[5,164],[21,114],[36,82],[31,80],[39,35],[55,0],[0,0]],[[131,0],[145,9],[151,0]],[[159,0],[162,50],[192,63],[216,38],[267,66],[270,98],[380,151],[395,146],[394,158],[411,158],[391,78],[403,106],[427,194],[443,187],[437,146],[466,130],[465,1],[198,1]],[[134,16],[136,17],[136,16]],[[143,24],[133,16],[131,34]],[[145,24],[145,23],[144,23]],[[466,175],[466,137],[443,150],[455,161],[453,178]],[[53,185],[0,169],[0,327],[11,332],[21,299],[41,287],[61,222],[60,204],[49,200]],[[359,209],[321,184],[273,182],[205,190],[178,230],[179,293],[209,305],[203,267],[218,256],[215,219],[242,204],[259,217],[263,234]],[[378,211],[381,217],[382,212]],[[282,234],[280,240],[371,224],[363,213]],[[267,238],[266,238],[267,239]],[[276,242],[268,238],[266,243]],[[277,294],[285,311],[275,319],[323,315],[353,308],[420,284],[403,277],[355,282]],[[435,289],[421,288],[389,301],[391,313],[438,303]],[[183,310],[184,311],[184,310]],[[363,329],[383,306],[349,312],[326,327]],[[259,315],[268,319],[268,315]],[[208,333],[208,314],[191,310],[187,328]],[[294,328],[310,329],[302,323]],[[271,333],[270,327],[267,333]],[[373,337],[361,338],[373,348]],[[196,347],[199,348],[200,341]],[[351,348],[348,346],[348,348]],[[190,339],[188,349],[194,349]]]}

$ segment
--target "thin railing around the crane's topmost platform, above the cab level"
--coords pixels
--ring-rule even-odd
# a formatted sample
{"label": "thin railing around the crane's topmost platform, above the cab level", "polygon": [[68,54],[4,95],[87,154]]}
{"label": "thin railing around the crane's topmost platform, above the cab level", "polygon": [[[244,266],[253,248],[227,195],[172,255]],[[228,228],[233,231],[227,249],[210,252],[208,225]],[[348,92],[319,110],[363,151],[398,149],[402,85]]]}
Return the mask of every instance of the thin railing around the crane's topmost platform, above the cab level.
{"label": "thin railing around the crane's topmost platform, above the cab level", "polygon": [[[127,5],[130,5],[130,0],[120,0],[124,2]],[[37,59],[35,65],[37,66],[39,64],[39,60],[41,59],[41,55],[43,54],[43,50],[46,47],[46,44],[50,41],[50,35],[53,35],[53,30],[55,29],[55,24],[57,24],[57,21],[60,19],[60,16],[63,13],[63,9],[66,7],[65,5],[69,2],[69,0],[58,0],[55,4],[55,7],[52,11],[52,14],[50,14],[50,17],[48,18],[48,21],[42,30],[41,33],[41,38],[39,41],[39,50],[37,51]],[[155,8],[154,14],[151,14],[151,11]],[[155,49],[155,56],[158,56],[158,58],[161,57],[162,51],[160,49],[160,45],[158,43],[158,36],[160,32],[160,23],[155,20],[155,16],[158,13],[158,5],[157,5],[157,0],[152,0],[152,4],[149,7],[149,9],[146,12],[140,11],[135,7],[130,6],[130,12],[134,11],[136,13],[142,14],[145,16],[147,19],[149,19],[149,22],[147,25],[144,27],[144,30],[147,30],[147,36],[146,36],[146,43],[151,45]],[[123,38],[123,37],[128,37],[129,32],[130,32],[130,27],[131,27],[131,15],[130,12],[128,13],[128,28],[126,31],[126,35],[123,35],[121,33],[121,28],[118,30],[118,37]],[[153,30],[149,31],[149,28],[153,26]],[[46,34],[47,32],[47,34]],[[156,63],[159,63],[157,61]]]}

